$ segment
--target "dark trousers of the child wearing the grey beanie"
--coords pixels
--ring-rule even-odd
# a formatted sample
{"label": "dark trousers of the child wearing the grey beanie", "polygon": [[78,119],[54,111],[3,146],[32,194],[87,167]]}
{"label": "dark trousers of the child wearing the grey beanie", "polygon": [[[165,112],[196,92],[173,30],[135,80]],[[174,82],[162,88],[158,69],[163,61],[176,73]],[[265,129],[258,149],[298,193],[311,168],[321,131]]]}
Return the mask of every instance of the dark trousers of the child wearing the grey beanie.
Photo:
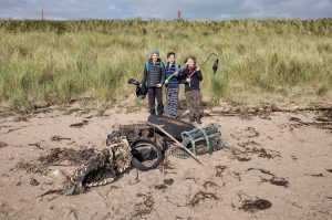
{"label": "dark trousers of the child wearing the grey beanie", "polygon": [[152,115],[156,114],[155,99],[157,99],[157,113],[158,113],[158,115],[163,115],[164,114],[163,90],[160,87],[148,87],[147,96],[148,96],[149,113]]}

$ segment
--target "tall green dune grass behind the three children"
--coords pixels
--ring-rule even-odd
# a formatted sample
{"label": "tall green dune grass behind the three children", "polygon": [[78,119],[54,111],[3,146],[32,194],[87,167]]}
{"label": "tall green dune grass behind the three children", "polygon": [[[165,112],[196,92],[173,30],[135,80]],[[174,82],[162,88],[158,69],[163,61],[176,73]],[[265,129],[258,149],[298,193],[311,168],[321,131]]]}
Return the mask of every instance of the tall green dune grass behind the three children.
{"label": "tall green dune grass behind the three children", "polygon": [[[15,21],[0,20],[0,98],[14,111],[34,111],[90,97],[120,103],[141,80],[152,48],[165,61],[188,54],[203,63],[206,101],[246,103],[293,87],[326,99],[332,88],[332,19],[234,21]],[[243,97],[246,97],[243,99]],[[328,97],[331,101],[331,97]],[[82,102],[85,103],[85,102]]]}

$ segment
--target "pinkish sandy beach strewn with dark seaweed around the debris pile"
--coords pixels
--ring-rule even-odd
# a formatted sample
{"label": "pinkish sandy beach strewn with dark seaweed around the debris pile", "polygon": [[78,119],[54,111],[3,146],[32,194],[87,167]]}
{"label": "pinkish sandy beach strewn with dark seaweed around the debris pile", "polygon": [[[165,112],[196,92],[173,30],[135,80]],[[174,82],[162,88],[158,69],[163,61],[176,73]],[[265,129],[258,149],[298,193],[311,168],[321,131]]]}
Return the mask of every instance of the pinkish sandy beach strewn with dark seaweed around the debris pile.
{"label": "pinkish sandy beach strewn with dark seaweed around the debris pile", "polygon": [[[330,111],[216,114],[224,142],[239,151],[193,158],[167,155],[157,169],[131,169],[117,181],[63,196],[80,165],[39,166],[52,149],[103,149],[120,124],[146,112],[51,111],[0,119],[0,219],[332,219]],[[185,118],[186,119],[186,118]],[[45,193],[48,192],[48,193]]]}

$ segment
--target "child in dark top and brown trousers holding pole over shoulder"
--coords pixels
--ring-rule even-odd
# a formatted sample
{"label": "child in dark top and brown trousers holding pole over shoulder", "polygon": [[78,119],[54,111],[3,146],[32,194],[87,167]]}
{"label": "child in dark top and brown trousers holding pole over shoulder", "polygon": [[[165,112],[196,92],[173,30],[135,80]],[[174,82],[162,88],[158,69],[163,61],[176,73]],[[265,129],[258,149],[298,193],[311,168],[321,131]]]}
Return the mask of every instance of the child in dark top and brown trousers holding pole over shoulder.
{"label": "child in dark top and brown trousers holding pole over shoulder", "polygon": [[183,70],[183,82],[185,83],[185,94],[186,102],[189,108],[189,122],[197,122],[201,124],[200,121],[200,103],[201,94],[199,88],[199,83],[203,81],[203,74],[199,67],[196,65],[196,57],[188,56],[185,60],[186,67]]}

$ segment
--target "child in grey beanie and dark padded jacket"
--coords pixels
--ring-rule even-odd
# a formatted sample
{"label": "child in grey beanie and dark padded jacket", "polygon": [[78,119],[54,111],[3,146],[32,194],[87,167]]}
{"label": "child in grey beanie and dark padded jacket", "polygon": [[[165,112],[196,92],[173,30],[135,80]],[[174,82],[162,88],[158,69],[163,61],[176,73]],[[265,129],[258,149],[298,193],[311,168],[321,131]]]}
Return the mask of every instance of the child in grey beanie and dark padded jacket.
{"label": "child in grey beanie and dark padded jacket", "polygon": [[146,85],[148,96],[149,114],[156,115],[157,99],[157,114],[164,114],[163,105],[163,84],[165,82],[165,65],[159,59],[159,51],[154,49],[149,53],[149,60],[144,65],[144,76],[141,81],[141,86]]}

